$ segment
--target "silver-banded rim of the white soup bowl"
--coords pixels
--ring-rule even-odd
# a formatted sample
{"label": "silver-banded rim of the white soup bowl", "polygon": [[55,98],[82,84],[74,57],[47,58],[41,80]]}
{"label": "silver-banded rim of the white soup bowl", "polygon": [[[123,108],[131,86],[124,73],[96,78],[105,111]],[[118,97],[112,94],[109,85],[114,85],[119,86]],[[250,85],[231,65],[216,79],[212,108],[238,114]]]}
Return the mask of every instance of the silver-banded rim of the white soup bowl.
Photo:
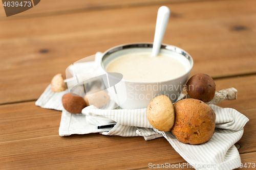
{"label": "silver-banded rim of the white soup bowl", "polygon": [[[101,70],[105,74],[108,74],[108,72],[106,72],[105,69],[103,68],[103,60],[104,60],[104,58],[108,57],[110,54],[115,53],[117,51],[124,50],[124,49],[127,49],[127,48],[134,48],[134,47],[143,47],[143,48],[153,47],[153,42],[126,43],[126,44],[121,44],[121,45],[117,45],[117,46],[109,48],[108,50],[106,50],[102,54],[101,63],[100,63]],[[193,68],[193,65],[194,65],[193,58],[186,51],[184,51],[182,48],[179,48],[179,47],[174,46],[174,45],[162,44],[161,45],[161,49],[169,50],[169,51],[172,51],[172,52],[179,53],[179,54],[183,55],[185,58],[187,58],[187,60],[190,63],[189,69],[184,74],[182,74],[181,76],[179,76],[177,78],[174,78],[174,79],[165,80],[165,81],[137,82],[137,81],[131,81],[131,80],[125,80],[125,79],[123,79],[123,81],[128,82],[128,83],[137,83],[137,84],[167,83],[167,82],[178,80],[178,79],[186,76],[191,71],[191,69]],[[118,79],[118,78],[116,78],[116,77],[114,77],[114,76],[112,76],[110,74],[108,74],[108,76],[111,77],[111,78],[114,78],[114,79]]]}

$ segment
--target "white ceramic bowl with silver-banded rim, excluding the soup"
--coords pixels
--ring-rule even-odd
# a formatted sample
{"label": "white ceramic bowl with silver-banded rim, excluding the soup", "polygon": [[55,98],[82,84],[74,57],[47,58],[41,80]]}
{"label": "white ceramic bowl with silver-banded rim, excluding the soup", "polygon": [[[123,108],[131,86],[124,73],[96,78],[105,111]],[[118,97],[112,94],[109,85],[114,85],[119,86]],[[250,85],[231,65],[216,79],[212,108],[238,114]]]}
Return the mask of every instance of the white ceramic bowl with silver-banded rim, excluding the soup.
{"label": "white ceramic bowl with silver-banded rim, excluding the soup", "polygon": [[[119,56],[135,52],[152,52],[152,47],[153,43],[130,43],[112,47],[103,53],[102,71],[105,74],[106,65]],[[108,91],[111,97],[121,108],[146,108],[153,98],[161,94],[167,95],[173,103],[178,99],[189,78],[193,59],[187,52],[173,45],[162,44],[160,53],[178,57],[183,61],[186,72],[175,79],[161,82],[134,82],[124,80],[121,74],[108,74],[108,80],[105,80],[104,84],[110,87]]]}

